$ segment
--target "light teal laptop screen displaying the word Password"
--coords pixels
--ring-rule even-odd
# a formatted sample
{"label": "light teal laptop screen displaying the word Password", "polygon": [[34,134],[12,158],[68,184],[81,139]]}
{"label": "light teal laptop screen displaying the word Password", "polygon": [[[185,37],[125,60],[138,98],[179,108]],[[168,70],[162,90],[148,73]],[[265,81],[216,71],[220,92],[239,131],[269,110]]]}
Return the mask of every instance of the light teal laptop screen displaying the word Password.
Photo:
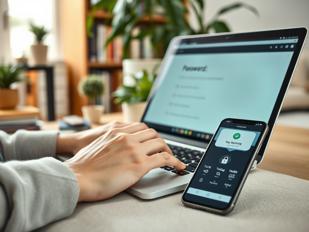
{"label": "light teal laptop screen displaying the word Password", "polygon": [[175,45],[144,121],[203,139],[224,118],[268,122],[297,41]]}

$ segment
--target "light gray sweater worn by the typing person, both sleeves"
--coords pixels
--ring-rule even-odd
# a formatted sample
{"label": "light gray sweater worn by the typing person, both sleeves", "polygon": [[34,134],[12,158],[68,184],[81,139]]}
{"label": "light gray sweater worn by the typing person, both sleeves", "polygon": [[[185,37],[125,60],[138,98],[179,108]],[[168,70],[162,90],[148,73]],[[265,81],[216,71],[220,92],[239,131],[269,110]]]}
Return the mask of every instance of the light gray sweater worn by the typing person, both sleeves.
{"label": "light gray sweater worn by the typing person, both sleeves", "polygon": [[[57,131],[0,131],[4,161],[55,156]],[[0,231],[31,231],[70,216],[79,187],[73,171],[46,157],[0,162]]]}

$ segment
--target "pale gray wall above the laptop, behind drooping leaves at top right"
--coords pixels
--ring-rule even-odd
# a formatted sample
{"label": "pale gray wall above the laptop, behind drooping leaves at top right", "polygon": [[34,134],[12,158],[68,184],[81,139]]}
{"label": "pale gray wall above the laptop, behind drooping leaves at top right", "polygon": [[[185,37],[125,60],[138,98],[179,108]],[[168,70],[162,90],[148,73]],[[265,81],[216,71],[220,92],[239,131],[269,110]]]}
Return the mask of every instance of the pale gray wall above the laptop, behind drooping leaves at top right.
{"label": "pale gray wall above the laptop, behind drooping leaves at top right", "polygon": [[[236,1],[206,1],[206,21],[209,21],[222,6],[234,2]],[[309,28],[308,0],[243,0],[241,2],[256,7],[260,13],[260,17],[256,17],[252,12],[245,9],[231,11],[231,13],[220,17],[228,22],[228,25],[234,32],[288,27]],[[192,16],[190,16],[190,22],[191,24],[196,24],[196,20]],[[309,51],[308,41],[304,46],[304,50]]]}

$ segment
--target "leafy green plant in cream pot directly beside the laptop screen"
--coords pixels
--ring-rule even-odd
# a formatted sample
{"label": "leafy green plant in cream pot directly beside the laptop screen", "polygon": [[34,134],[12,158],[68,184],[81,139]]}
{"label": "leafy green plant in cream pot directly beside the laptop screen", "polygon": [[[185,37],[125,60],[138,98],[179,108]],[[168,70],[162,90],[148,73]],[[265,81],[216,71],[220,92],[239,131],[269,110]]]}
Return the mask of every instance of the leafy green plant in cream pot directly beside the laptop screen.
{"label": "leafy green plant in cream pot directly beside the laptop screen", "polygon": [[116,97],[114,100],[115,104],[121,104],[125,122],[141,121],[147,97],[155,81],[156,68],[153,69],[150,75],[146,70],[140,71],[135,75],[125,74],[130,75],[136,84],[134,86],[121,85],[115,92],[112,92],[112,97]]}

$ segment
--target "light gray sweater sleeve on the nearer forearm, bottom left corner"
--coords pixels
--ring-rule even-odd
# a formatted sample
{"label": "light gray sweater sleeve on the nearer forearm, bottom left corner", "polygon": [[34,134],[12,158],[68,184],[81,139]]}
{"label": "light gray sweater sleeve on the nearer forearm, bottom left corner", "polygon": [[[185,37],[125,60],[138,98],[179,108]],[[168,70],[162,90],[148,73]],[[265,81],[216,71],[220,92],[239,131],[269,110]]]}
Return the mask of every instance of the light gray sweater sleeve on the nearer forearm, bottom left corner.
{"label": "light gray sweater sleeve on the nearer forearm, bottom left corner", "polygon": [[54,158],[0,163],[0,231],[31,231],[68,217],[78,193],[72,170]]}

